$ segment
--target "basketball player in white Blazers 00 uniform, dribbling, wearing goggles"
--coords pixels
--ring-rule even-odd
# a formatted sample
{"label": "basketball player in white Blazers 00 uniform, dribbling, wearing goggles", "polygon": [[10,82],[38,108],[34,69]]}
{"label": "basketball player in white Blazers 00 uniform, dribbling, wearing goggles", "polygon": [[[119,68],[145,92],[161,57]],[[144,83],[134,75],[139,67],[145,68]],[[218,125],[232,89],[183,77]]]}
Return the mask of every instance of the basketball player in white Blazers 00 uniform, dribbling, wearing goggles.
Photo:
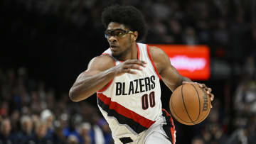
{"label": "basketball player in white Blazers 00 uniform, dribbling, wearing goggles", "polygon": [[[102,12],[105,37],[110,48],[94,57],[70,89],[72,101],[97,92],[97,104],[109,123],[114,143],[175,143],[176,131],[169,113],[161,109],[163,80],[171,91],[183,82],[160,48],[142,40],[146,26],[133,6],[110,6]],[[211,89],[199,84],[213,100]]]}

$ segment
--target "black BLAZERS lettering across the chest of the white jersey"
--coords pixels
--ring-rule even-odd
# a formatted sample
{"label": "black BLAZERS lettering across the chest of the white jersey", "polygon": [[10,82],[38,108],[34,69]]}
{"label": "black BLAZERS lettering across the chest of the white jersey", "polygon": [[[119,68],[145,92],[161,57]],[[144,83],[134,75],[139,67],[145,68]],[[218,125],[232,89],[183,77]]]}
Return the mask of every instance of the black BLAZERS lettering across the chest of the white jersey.
{"label": "black BLAZERS lettering across the chest of the white jersey", "polygon": [[[134,79],[133,81],[129,82],[129,84],[126,84],[126,82],[116,82],[116,96],[148,92],[155,88],[155,79],[156,77],[152,75],[151,77]],[[129,87],[129,89],[125,89],[126,87]]]}

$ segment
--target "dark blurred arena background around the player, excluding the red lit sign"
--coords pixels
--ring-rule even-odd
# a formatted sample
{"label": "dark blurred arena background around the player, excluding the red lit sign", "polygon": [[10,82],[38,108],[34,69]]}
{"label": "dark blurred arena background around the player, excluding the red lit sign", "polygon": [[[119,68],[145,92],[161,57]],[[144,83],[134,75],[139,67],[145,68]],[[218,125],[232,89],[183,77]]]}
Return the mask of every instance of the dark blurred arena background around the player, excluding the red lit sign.
{"label": "dark blurred arena background around the player, excluding the red lit sign", "polygon": [[[11,120],[7,140],[21,143],[27,138],[22,134],[24,116],[33,119],[35,143],[111,143],[96,96],[79,103],[68,98],[78,74],[108,48],[100,16],[110,4],[130,4],[144,13],[149,28],[144,43],[210,48],[210,79],[196,82],[213,89],[213,109],[196,126],[175,122],[177,143],[255,143],[255,0],[1,0],[1,143],[5,118]],[[164,84],[162,88],[168,109],[171,92]],[[46,109],[53,118],[38,139],[36,123],[43,123]]]}

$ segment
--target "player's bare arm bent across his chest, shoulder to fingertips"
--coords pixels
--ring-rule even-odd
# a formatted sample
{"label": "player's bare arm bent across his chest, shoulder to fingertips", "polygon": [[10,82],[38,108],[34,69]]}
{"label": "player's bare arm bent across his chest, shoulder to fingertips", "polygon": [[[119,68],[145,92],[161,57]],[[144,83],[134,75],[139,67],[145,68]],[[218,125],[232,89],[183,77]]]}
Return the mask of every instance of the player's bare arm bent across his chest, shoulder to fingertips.
{"label": "player's bare arm bent across his chest, shoulder to fingertips", "polygon": [[131,69],[142,70],[145,62],[127,60],[114,66],[112,57],[102,55],[93,58],[85,72],[82,72],[70,88],[69,96],[72,101],[82,101],[107,85],[111,79],[124,73],[136,74]]}

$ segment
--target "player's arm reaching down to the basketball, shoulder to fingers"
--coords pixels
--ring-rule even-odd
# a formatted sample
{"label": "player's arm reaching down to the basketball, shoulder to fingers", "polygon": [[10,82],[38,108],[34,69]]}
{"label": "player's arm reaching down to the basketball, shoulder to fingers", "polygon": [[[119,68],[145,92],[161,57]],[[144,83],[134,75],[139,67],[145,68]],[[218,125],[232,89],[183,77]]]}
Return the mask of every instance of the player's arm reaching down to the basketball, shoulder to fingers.
{"label": "player's arm reaching down to the basketball, shoulder to fingers", "polygon": [[[164,84],[166,84],[171,91],[174,91],[174,89],[181,84],[192,82],[191,79],[188,79],[188,77],[183,77],[181,74],[179,74],[176,68],[171,65],[171,61],[169,56],[166,55],[166,52],[156,47],[149,47],[149,52]],[[213,101],[214,95],[211,93],[212,89],[206,87],[206,84],[197,84],[206,91],[206,94],[210,96],[210,100]]]}

